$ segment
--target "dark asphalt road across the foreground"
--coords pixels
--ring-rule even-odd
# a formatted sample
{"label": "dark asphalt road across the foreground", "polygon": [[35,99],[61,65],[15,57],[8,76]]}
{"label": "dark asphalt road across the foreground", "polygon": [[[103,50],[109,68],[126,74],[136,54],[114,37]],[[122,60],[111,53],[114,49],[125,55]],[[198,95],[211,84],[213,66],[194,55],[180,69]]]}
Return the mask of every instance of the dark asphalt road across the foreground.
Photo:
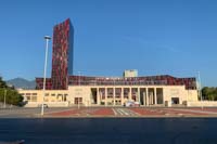
{"label": "dark asphalt road across the foreground", "polygon": [[26,144],[216,144],[214,118],[0,119],[0,142]]}

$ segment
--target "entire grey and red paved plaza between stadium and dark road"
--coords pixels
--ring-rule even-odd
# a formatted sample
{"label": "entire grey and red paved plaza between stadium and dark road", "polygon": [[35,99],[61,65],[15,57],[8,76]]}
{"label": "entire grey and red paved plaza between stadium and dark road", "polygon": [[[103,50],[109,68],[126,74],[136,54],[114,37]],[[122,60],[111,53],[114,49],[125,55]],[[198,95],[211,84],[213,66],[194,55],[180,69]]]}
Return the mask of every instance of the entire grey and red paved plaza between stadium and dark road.
{"label": "entire grey and red paved plaza between stadium and dark road", "polygon": [[[40,118],[40,108],[0,109],[0,118]],[[217,107],[65,107],[46,108],[44,116],[61,117],[217,117]]]}

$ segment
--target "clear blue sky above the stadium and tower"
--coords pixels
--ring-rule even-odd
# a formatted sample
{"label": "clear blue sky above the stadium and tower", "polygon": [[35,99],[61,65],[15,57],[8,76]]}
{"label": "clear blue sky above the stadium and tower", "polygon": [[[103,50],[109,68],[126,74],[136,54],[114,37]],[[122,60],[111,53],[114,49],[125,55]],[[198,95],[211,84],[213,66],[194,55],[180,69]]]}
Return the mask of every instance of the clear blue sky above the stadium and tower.
{"label": "clear blue sky above the stadium and tower", "polygon": [[43,36],[67,17],[75,28],[75,75],[200,71],[202,86],[217,86],[216,0],[1,0],[0,75],[42,77]]}

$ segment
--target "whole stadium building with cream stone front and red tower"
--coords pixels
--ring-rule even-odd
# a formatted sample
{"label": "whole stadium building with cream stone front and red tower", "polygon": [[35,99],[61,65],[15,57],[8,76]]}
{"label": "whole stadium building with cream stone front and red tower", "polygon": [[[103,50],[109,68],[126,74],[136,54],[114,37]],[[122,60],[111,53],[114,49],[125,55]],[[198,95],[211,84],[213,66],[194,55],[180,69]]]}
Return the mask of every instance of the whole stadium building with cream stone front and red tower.
{"label": "whole stadium building with cream stone front and red tower", "polygon": [[[36,90],[20,90],[26,106],[140,106],[188,105],[197,101],[196,79],[169,75],[140,77],[136,69],[123,77],[73,75],[74,28],[68,19],[53,28],[52,74],[46,80],[36,78]],[[44,95],[43,95],[44,94]]]}

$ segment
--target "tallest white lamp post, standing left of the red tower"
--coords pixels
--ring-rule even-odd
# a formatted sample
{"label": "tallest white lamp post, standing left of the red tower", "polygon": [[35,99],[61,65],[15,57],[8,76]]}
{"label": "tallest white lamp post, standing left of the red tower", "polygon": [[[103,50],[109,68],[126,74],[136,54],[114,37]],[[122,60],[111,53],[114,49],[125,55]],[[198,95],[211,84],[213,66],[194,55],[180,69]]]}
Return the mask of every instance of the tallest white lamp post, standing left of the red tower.
{"label": "tallest white lamp post, standing left of the red tower", "polygon": [[42,93],[42,104],[41,104],[41,116],[43,116],[43,99],[46,95],[46,73],[47,73],[47,60],[48,60],[48,42],[51,39],[50,36],[44,36],[46,39],[46,61],[44,61],[44,69],[43,69],[43,93]]}

